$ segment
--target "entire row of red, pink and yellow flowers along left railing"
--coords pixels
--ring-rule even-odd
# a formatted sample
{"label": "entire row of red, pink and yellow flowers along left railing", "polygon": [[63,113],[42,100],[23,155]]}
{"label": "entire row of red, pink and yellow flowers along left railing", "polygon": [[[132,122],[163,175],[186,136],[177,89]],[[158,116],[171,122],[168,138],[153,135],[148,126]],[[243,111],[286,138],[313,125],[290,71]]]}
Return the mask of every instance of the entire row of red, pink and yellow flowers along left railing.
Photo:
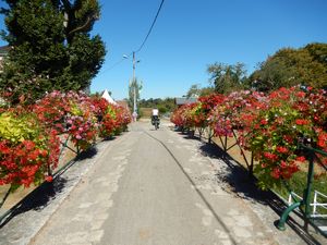
{"label": "entire row of red, pink and yellow flowers along left railing", "polygon": [[[66,135],[77,152],[97,137],[121,132],[130,112],[84,93],[52,91],[35,105],[0,108],[0,185],[51,181],[60,155],[60,135]],[[62,140],[62,139],[61,139]]]}

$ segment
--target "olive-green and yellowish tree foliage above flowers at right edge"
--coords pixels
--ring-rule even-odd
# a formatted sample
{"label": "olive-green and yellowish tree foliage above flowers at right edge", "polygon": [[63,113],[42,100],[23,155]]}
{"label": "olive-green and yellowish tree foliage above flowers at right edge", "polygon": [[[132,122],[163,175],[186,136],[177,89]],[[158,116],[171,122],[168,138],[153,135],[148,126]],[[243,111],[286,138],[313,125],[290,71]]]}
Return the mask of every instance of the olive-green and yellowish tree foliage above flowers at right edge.
{"label": "olive-green and yellowish tree foliage above flowers at right edge", "polygon": [[327,86],[327,44],[310,44],[304,48],[283,48],[259,64],[249,78],[258,90],[274,90],[298,84]]}

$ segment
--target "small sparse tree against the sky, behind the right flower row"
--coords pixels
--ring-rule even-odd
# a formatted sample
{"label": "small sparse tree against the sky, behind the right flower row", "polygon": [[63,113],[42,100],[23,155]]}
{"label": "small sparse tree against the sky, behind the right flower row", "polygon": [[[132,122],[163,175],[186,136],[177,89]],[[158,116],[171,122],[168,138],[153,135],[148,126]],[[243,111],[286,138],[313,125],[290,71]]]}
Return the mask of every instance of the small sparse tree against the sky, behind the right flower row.
{"label": "small sparse tree against the sky, behind the right flower row", "polygon": [[207,72],[210,74],[210,82],[215,90],[220,94],[228,94],[241,89],[246,78],[246,70],[243,63],[225,64],[214,63],[208,65]]}

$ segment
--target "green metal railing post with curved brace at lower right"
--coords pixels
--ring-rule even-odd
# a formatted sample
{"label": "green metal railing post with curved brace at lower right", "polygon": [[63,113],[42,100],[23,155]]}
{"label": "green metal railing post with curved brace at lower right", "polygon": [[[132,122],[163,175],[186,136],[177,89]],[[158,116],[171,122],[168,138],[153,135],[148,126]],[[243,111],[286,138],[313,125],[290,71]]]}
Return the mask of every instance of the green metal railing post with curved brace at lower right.
{"label": "green metal railing post with curved brace at lower right", "polygon": [[[327,157],[327,152],[315,149],[312,147],[307,147],[303,144],[299,145],[299,149],[303,150],[307,154],[308,159],[308,169],[307,169],[307,177],[306,177],[306,187],[303,192],[303,198],[298,198],[295,195],[292,195],[292,199],[294,203],[290,205],[281,215],[277,228],[281,231],[286,230],[284,223],[289,217],[289,215],[292,211],[295,211],[295,209],[300,210],[302,213],[302,217],[304,219],[304,228],[307,229],[308,224],[311,224],[313,228],[315,228],[320,234],[323,234],[325,237],[327,237],[327,232],[319,229],[319,226],[314,222],[317,219],[317,217],[311,216],[311,193],[312,193],[312,186],[313,186],[313,177],[314,177],[314,166],[315,162],[319,164],[325,171],[327,171],[327,167],[322,162],[320,158],[317,155]],[[316,160],[316,161],[315,161]],[[288,186],[287,186],[288,187]],[[288,187],[289,188],[289,187]]]}

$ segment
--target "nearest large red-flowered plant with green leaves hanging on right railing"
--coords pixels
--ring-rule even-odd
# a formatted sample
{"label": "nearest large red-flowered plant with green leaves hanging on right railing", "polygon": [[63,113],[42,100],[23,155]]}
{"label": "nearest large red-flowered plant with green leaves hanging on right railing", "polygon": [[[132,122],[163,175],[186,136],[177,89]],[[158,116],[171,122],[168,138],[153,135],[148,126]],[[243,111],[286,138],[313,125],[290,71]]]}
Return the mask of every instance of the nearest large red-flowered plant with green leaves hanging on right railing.
{"label": "nearest large red-flowered plant with green leaves hanging on right railing", "polygon": [[244,135],[245,149],[258,161],[255,172],[262,188],[278,185],[300,170],[299,164],[306,159],[298,150],[299,138],[317,145],[317,125],[310,108],[299,110],[305,98],[296,87],[272,91],[267,109],[255,117]]}

